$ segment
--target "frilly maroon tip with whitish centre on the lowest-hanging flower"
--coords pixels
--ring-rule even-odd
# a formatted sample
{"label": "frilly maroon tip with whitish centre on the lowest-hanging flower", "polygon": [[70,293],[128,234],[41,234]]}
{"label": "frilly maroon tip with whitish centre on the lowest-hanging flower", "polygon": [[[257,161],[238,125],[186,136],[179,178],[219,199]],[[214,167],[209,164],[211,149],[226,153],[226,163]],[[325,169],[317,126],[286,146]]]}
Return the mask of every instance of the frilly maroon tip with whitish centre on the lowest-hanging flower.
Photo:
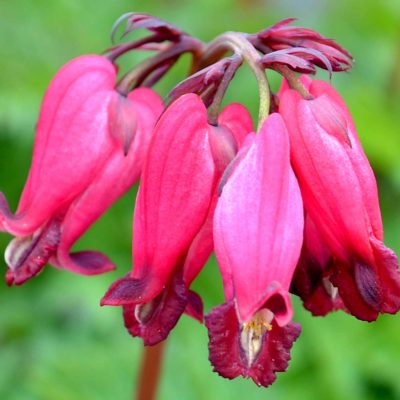
{"label": "frilly maroon tip with whitish centre on the lowest-hanging flower", "polygon": [[209,336],[209,360],[214,371],[224,378],[241,375],[259,386],[269,386],[276,372],[286,371],[290,349],[301,327],[289,323],[279,327],[239,323],[233,302],[220,305],[206,315]]}

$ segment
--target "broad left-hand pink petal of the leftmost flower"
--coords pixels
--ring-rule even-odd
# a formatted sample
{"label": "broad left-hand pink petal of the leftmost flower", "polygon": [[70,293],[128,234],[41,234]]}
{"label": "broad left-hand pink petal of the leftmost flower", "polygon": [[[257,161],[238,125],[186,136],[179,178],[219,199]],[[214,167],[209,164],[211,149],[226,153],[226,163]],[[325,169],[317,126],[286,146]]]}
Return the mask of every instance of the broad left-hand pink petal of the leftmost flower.
{"label": "broad left-hand pink petal of the leftmost flower", "polygon": [[3,221],[5,229],[31,234],[90,182],[112,148],[107,108],[114,83],[114,67],[99,56],[73,60],[56,75],[42,105],[17,218]]}

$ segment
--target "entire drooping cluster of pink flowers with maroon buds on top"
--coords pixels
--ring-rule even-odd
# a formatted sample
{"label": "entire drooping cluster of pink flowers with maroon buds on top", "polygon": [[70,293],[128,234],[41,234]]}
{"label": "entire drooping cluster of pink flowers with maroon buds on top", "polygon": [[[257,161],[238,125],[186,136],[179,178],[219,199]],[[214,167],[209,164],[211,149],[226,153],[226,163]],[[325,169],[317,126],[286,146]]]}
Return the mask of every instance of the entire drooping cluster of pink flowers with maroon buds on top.
{"label": "entire drooping cluster of pink flowers with maroon buds on top", "polygon": [[[205,322],[216,372],[268,386],[301,331],[290,293],[313,315],[396,313],[398,261],[383,244],[374,174],[340,95],[309,77],[316,67],[348,70],[351,55],[291,22],[205,44],[127,14],[113,37],[121,25],[122,36],[147,36],[63,66],[42,104],[15,214],[0,197],[0,229],[15,236],[7,283],[20,285],[47,263],[86,275],[114,269],[104,254],[70,250],[140,178],[133,269],[101,304],[122,306],[126,328],[145,345],[165,340],[186,313]],[[118,78],[117,60],[134,50],[152,54]],[[184,53],[189,76],[165,106],[150,87]],[[258,83],[256,129],[240,103],[220,110],[243,64]],[[278,93],[267,69],[282,75]],[[204,316],[190,286],[213,251],[225,303]]]}

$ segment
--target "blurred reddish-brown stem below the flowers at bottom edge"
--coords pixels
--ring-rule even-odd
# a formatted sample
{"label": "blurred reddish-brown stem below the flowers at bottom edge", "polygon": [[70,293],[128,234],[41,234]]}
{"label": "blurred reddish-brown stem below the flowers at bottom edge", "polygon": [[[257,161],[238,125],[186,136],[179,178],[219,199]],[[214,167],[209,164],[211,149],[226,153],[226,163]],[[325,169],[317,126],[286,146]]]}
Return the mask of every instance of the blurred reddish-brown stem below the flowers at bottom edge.
{"label": "blurred reddish-brown stem below the flowers at bottom edge", "polygon": [[140,367],[136,400],[155,400],[161,376],[165,342],[145,346]]}

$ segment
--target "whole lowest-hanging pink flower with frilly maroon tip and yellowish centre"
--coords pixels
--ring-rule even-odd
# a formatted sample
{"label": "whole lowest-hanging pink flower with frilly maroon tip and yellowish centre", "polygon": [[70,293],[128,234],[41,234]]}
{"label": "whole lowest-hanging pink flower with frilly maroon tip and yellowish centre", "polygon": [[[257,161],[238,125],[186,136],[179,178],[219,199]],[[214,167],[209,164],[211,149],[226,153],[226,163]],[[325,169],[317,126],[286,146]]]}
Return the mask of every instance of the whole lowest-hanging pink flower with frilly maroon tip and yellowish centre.
{"label": "whole lowest-hanging pink flower with frilly maroon tip and yellowish centre", "polygon": [[226,378],[268,386],[285,371],[300,334],[289,286],[300,255],[303,205],[282,118],[252,135],[223,187],[214,217],[226,303],[206,316],[210,361]]}

